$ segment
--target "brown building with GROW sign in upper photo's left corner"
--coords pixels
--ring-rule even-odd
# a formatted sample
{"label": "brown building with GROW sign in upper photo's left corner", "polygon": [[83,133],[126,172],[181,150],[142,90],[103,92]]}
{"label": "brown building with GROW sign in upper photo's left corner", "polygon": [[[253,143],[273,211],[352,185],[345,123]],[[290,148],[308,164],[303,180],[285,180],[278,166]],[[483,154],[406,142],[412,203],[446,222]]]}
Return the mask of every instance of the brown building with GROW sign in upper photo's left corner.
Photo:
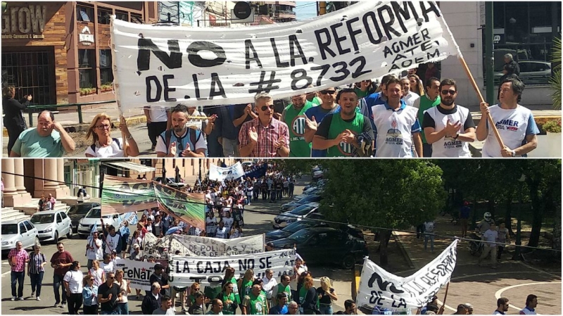
{"label": "brown building with GROW sign in upper photo's left corner", "polygon": [[8,2],[2,13],[1,77],[16,99],[42,105],[108,101],[112,93],[110,15],[157,20],[157,3]]}

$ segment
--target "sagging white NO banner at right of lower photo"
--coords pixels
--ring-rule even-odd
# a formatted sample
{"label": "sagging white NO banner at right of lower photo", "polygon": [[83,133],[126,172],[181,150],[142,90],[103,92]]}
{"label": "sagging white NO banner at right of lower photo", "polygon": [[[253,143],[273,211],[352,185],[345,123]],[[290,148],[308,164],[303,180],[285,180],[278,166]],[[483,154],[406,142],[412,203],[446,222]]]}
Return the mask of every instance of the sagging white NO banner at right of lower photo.
{"label": "sagging white NO banner at right of lower photo", "polygon": [[366,259],[356,305],[372,310],[419,308],[450,282],[457,260],[456,239],[438,257],[410,277],[398,277]]}

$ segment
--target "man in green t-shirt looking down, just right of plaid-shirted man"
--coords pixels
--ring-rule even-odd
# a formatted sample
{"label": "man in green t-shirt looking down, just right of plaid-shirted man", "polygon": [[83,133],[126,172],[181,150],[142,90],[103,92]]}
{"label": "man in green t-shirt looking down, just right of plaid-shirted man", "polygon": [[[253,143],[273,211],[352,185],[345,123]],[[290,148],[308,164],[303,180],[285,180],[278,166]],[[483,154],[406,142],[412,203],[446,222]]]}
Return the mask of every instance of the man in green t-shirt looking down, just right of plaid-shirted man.
{"label": "man in green t-shirt looking down, just right of plaid-shirted man", "polygon": [[281,122],[289,127],[289,157],[310,157],[311,144],[305,141],[305,111],[315,106],[307,94],[291,97],[291,104],[281,112]]}

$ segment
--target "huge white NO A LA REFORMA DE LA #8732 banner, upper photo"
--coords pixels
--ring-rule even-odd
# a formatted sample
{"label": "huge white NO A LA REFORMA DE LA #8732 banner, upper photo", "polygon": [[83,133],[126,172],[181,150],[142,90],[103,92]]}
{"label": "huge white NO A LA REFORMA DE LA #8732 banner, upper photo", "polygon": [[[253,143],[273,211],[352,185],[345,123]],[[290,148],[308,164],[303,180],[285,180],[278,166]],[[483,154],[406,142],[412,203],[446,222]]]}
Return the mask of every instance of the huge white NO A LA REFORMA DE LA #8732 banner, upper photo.
{"label": "huge white NO A LA REFORMA DE LA #8732 banner, upper photo", "polygon": [[434,1],[360,1],[308,20],[236,28],[113,16],[111,42],[122,110],[251,103],[261,91],[282,99],[461,56]]}

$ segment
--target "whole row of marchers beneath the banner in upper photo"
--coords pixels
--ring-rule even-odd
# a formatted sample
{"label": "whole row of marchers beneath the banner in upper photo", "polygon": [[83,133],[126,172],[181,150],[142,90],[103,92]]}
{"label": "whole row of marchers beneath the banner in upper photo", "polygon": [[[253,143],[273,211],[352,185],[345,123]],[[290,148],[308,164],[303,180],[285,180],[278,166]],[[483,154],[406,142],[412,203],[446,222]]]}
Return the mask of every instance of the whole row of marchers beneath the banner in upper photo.
{"label": "whole row of marchers beneath the banner in upper photo", "polygon": [[[365,80],[353,87],[296,94],[291,102],[259,93],[253,104],[210,106],[203,112],[182,104],[147,106],[150,151],[157,157],[190,158],[440,158],[471,157],[469,143],[475,140],[484,141],[483,157],[521,157],[536,148],[539,130],[531,110],[519,105],[524,84],[517,76],[502,77],[497,105],[480,104],[481,117],[490,114],[495,122],[500,148],[487,120],[476,125],[468,108],[455,103],[455,80],[440,80],[438,72],[427,71],[423,83],[416,72],[411,69],[401,78],[386,75],[379,86]],[[3,92],[4,113],[25,125],[25,107],[13,99],[13,87]],[[53,113],[44,110],[37,120],[36,129],[8,128],[11,157],[61,157],[75,150]],[[125,119],[119,125],[125,139],[112,137],[112,127],[106,113],[96,115],[86,135],[92,143],[85,156],[123,157],[124,148],[125,156],[139,155]]]}

